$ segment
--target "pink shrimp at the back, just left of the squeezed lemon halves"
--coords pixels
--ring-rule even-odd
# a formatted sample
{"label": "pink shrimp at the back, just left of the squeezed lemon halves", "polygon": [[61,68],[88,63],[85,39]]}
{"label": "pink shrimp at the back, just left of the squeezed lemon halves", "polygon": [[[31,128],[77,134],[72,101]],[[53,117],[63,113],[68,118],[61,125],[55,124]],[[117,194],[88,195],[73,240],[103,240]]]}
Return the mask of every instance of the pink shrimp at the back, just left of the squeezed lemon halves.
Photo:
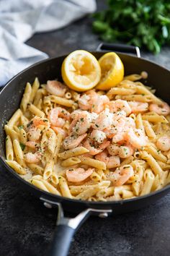
{"label": "pink shrimp at the back, just left of the squeezed lemon halves", "polygon": [[63,85],[61,82],[55,80],[48,80],[46,85],[46,90],[48,93],[63,97],[66,93],[66,86]]}

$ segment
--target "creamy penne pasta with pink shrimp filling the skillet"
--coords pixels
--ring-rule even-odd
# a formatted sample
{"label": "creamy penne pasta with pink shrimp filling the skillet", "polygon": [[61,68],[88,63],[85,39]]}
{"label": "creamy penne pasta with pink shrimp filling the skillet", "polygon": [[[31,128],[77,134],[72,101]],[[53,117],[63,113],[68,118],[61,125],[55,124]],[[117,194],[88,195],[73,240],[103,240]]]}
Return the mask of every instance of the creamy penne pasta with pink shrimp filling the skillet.
{"label": "creamy penne pasta with pink shrimp filling the skillet", "polygon": [[4,126],[6,163],[38,189],[76,200],[126,200],[166,186],[170,108],[135,82],[142,75],[107,93],[64,85],[52,94],[48,82],[27,82]]}

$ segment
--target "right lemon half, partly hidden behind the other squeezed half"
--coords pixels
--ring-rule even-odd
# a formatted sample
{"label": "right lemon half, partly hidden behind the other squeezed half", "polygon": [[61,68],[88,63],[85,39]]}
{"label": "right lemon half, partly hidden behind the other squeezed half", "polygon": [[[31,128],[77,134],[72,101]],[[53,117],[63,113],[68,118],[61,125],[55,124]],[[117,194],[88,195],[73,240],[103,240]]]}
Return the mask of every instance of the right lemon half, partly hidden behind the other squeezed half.
{"label": "right lemon half, partly hidden behind the other squeezed half", "polygon": [[122,81],[124,76],[124,66],[120,57],[114,52],[104,54],[99,59],[102,70],[102,77],[97,85],[99,90],[108,90]]}

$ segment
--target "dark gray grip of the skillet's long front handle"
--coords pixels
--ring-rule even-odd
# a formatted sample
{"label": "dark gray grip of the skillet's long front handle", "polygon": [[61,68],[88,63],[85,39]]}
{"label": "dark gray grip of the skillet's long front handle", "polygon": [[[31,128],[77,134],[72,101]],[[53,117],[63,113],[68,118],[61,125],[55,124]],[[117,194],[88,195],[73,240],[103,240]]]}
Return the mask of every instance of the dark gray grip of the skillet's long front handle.
{"label": "dark gray grip of the skillet's long front handle", "polygon": [[50,256],[67,256],[75,231],[66,225],[57,226],[53,235]]}

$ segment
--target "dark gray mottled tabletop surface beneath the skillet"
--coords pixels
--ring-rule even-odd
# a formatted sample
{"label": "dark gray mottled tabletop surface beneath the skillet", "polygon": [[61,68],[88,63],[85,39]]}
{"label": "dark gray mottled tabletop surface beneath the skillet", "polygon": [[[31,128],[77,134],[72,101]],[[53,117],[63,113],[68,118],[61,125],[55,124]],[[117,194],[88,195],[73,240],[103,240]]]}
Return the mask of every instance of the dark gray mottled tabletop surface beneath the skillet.
{"label": "dark gray mottled tabletop surface beneath the skillet", "polygon": [[[91,20],[84,18],[63,30],[35,35],[28,44],[50,56],[59,56],[77,48],[92,51],[99,42],[91,33]],[[170,69],[169,55],[170,48],[164,48],[158,56],[142,52],[142,56]],[[44,208],[2,166],[0,169],[0,256],[47,255],[56,210]],[[169,202],[167,195],[155,205],[133,213],[89,218],[77,232],[69,255],[170,255]]]}

